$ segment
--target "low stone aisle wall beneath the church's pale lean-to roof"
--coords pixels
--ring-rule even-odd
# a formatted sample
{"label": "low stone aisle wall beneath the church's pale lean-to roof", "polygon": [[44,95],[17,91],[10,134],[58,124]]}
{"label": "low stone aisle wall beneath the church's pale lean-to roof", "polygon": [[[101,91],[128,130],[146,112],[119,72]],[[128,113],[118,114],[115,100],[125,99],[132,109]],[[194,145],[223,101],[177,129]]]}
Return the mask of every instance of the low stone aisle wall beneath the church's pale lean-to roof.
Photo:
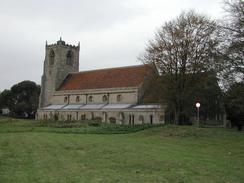
{"label": "low stone aisle wall beneath the church's pale lean-to roof", "polygon": [[[164,108],[162,109],[120,109],[120,110],[39,110],[39,120],[82,121],[100,118],[102,122],[116,124],[164,124]],[[55,119],[55,115],[58,116]],[[46,116],[46,117],[45,117]],[[69,118],[71,116],[71,119]],[[133,117],[134,116],[134,117]],[[132,120],[132,117],[134,120]]]}

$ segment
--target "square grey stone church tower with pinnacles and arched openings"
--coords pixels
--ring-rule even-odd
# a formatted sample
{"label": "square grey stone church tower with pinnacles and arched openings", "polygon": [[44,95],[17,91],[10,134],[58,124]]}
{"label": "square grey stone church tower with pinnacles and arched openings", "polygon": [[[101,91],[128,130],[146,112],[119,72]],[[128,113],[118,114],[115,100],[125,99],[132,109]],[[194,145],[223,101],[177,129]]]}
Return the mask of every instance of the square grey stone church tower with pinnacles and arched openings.
{"label": "square grey stone church tower with pinnacles and arched openings", "polygon": [[50,105],[52,95],[69,73],[79,71],[79,51],[80,44],[68,45],[61,38],[55,44],[46,43],[39,108]]}

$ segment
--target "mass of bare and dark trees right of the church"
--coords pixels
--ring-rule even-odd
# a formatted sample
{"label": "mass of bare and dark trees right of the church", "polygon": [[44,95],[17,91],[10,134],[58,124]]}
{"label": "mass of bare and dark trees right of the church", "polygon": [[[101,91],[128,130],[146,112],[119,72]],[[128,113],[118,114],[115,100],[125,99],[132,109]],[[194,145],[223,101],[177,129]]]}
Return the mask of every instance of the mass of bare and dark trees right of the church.
{"label": "mass of bare and dark trees right of the church", "polygon": [[175,124],[227,113],[241,128],[244,114],[244,2],[224,1],[222,22],[183,12],[160,27],[139,60],[157,68],[145,92],[153,93]]}

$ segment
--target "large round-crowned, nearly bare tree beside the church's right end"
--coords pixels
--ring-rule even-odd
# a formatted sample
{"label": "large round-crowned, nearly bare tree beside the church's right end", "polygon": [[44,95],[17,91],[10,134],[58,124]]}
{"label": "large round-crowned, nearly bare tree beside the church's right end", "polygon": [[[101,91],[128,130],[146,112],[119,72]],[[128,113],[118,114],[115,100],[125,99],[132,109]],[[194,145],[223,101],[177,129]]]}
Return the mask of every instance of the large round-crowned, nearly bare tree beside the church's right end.
{"label": "large round-crowned, nearly bare tree beside the church's right end", "polygon": [[[182,13],[175,20],[166,22],[149,41],[139,59],[155,63],[161,73],[161,98],[174,111],[179,124],[191,95],[195,77],[215,69],[218,52],[218,28],[215,21],[194,11]],[[193,104],[194,105],[194,104]]]}

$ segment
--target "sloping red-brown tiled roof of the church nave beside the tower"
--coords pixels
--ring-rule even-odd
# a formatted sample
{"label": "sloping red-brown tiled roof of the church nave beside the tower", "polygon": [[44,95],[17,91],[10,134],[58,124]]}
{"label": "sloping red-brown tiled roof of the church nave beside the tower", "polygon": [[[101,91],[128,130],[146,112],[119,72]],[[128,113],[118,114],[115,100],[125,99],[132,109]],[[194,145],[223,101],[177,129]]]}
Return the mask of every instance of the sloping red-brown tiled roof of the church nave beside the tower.
{"label": "sloping red-brown tiled roof of the church nave beside the tower", "polygon": [[138,87],[149,69],[148,65],[139,65],[72,73],[67,76],[58,91]]}

